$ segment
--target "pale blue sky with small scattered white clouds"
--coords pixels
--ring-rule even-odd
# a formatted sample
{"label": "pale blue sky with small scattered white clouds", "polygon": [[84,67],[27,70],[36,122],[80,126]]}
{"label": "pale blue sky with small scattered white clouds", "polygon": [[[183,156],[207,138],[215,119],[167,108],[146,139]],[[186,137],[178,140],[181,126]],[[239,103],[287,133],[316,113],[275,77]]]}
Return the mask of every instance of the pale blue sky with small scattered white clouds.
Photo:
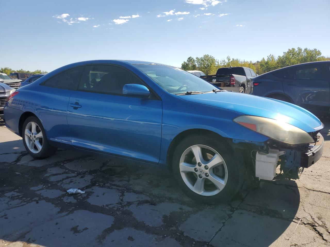
{"label": "pale blue sky with small scattered white clouds", "polygon": [[204,54],[257,61],[298,46],[330,56],[329,0],[0,0],[0,6],[0,67],[12,69],[50,72],[94,59],[180,67]]}

